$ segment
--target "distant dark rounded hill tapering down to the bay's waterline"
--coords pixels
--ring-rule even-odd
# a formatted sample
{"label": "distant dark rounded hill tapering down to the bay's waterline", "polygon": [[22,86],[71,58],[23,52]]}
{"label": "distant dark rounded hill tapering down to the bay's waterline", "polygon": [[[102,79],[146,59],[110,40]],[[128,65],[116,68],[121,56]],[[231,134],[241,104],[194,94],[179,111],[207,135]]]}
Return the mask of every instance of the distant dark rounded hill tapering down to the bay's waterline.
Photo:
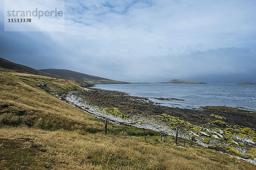
{"label": "distant dark rounded hill tapering down to the bay's waterline", "polygon": [[89,74],[83,74],[76,71],[65,70],[65,69],[42,69],[43,71],[48,74],[54,74],[56,76],[65,77],[67,79],[73,79],[80,82],[89,82],[91,84],[127,84],[128,82],[121,82],[112,79],[106,79],[102,77],[96,77]]}

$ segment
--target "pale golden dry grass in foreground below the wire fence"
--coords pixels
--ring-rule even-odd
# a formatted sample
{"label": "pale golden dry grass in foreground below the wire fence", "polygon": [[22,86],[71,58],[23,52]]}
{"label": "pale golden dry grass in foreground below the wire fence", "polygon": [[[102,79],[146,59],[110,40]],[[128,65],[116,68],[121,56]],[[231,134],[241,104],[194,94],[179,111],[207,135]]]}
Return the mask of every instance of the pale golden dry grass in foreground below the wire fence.
{"label": "pale golden dry grass in foreground below the wire fence", "polygon": [[151,144],[140,137],[46,131],[27,127],[0,129],[2,138],[32,139],[55,161],[53,169],[236,170],[253,165],[203,147]]}

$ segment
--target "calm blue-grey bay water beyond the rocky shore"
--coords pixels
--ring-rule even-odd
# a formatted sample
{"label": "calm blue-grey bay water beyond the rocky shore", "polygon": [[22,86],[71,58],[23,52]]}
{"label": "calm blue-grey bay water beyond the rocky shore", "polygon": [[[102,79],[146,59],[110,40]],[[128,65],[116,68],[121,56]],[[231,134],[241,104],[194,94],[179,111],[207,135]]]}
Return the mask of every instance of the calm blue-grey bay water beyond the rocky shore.
{"label": "calm blue-grey bay water beyond the rocky shore", "polygon": [[96,88],[122,91],[131,96],[177,98],[185,101],[161,101],[169,107],[198,108],[199,106],[226,105],[256,110],[256,85],[236,84],[127,84],[96,85]]}

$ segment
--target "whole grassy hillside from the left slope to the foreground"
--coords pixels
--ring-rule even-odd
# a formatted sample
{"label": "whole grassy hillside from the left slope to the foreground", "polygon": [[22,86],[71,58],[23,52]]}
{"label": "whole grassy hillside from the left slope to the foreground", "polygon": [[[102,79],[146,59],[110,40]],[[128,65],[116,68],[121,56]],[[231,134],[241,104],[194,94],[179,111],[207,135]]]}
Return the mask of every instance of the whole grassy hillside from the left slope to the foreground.
{"label": "whole grassy hillside from the left slope to the foreground", "polygon": [[[108,123],[59,100],[76,82],[0,73],[0,170],[253,170],[255,166],[173,137]],[[86,122],[86,123],[85,123]],[[84,126],[85,123],[85,126]],[[84,128],[83,128],[84,126]]]}

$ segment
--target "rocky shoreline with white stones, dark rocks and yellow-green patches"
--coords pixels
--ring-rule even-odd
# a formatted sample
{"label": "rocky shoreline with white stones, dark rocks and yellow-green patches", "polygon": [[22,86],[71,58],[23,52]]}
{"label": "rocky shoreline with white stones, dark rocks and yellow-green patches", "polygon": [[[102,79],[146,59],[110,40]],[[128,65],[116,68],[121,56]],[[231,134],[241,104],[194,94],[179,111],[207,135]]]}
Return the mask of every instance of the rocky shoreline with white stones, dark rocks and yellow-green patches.
{"label": "rocky shoreline with white stones, dark rocks and yellow-green patches", "polygon": [[148,98],[95,88],[69,91],[58,94],[58,98],[115,124],[140,127],[170,136],[175,135],[175,129],[179,126],[181,139],[256,165],[256,159],[250,158],[250,149],[256,144],[254,112],[211,106],[202,107],[204,110],[169,108]]}

